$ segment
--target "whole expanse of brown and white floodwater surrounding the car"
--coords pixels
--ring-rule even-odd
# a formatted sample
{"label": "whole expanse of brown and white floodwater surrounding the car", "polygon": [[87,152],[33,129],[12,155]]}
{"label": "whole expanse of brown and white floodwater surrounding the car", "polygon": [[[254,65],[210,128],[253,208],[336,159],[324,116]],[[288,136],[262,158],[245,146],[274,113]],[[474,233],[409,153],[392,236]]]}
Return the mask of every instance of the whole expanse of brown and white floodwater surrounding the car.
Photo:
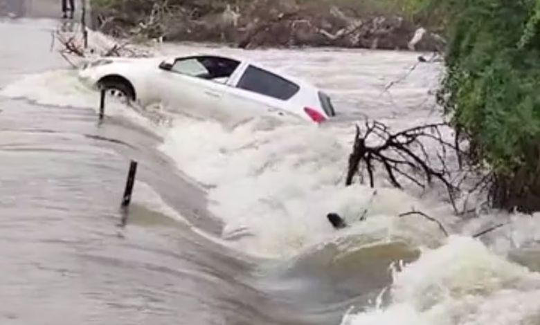
{"label": "whole expanse of brown and white floodwater surrounding the car", "polygon": [[[51,51],[57,24],[0,22],[1,324],[540,324],[540,216],[462,221],[437,194],[343,187],[354,122],[438,120],[437,64],[409,73],[418,54],[246,51],[326,89],[336,122],[231,129],[121,106],[99,122],[98,95]],[[397,218],[413,208],[451,236]],[[336,232],[328,212],[351,227]]]}

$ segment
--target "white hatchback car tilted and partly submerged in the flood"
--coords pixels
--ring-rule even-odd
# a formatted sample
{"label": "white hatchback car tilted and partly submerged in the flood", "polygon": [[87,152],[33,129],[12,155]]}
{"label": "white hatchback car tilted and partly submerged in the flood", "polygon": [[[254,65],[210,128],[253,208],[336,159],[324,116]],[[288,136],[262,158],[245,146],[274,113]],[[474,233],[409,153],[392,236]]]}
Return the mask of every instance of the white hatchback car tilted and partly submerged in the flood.
{"label": "white hatchback car tilted and partly submerged in the flood", "polygon": [[232,57],[98,59],[79,77],[107,95],[203,118],[273,114],[321,123],[335,115],[330,97],[315,86]]}

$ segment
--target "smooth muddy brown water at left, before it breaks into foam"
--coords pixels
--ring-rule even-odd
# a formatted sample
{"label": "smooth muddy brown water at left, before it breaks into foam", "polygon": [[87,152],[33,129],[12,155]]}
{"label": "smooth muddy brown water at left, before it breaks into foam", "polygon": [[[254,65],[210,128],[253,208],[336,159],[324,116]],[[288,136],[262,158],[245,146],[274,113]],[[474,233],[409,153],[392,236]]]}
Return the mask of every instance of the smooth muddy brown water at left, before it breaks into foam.
{"label": "smooth muddy brown water at left, before it breaks into foam", "polygon": [[[49,51],[56,27],[0,21],[0,86],[64,66]],[[316,267],[323,251],[306,265],[244,257],[138,203],[137,193],[119,228],[136,159],[138,182],[219,232],[204,193],[156,152],[158,141],[126,120],[99,123],[89,109],[0,100],[1,324],[339,324],[350,304],[388,284],[389,261],[343,272]],[[357,281],[357,271],[371,281]]]}

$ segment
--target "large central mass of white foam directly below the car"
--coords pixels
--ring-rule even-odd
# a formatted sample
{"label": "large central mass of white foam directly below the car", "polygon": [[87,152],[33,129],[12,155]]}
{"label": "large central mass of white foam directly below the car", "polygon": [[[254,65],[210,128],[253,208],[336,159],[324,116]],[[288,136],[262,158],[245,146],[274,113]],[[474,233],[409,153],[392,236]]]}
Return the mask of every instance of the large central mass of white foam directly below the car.
{"label": "large central mass of white foam directly below the car", "polygon": [[[266,129],[253,121],[226,129],[179,119],[161,150],[179,169],[209,185],[210,210],[226,222],[224,237],[242,234],[235,244],[253,254],[290,256],[334,240],[336,232],[326,219],[330,212],[358,223],[352,228],[358,234],[369,232],[375,222],[392,230],[391,236],[422,237],[419,225],[429,229],[426,237],[441,236],[437,225],[422,217],[397,218],[413,208],[429,211],[405,192],[379,188],[372,199],[374,189],[368,186],[345,187],[353,133],[351,125]],[[360,223],[363,214],[370,223]]]}

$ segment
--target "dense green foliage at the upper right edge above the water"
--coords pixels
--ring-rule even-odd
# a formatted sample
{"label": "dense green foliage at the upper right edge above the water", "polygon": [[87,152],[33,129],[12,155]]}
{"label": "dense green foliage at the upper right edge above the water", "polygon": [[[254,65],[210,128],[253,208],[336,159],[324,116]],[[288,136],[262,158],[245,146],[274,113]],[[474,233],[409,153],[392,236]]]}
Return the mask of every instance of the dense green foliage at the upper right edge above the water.
{"label": "dense green foliage at the upper right edge above the water", "polygon": [[449,40],[440,102],[498,175],[536,170],[540,140],[540,0],[438,0]]}

